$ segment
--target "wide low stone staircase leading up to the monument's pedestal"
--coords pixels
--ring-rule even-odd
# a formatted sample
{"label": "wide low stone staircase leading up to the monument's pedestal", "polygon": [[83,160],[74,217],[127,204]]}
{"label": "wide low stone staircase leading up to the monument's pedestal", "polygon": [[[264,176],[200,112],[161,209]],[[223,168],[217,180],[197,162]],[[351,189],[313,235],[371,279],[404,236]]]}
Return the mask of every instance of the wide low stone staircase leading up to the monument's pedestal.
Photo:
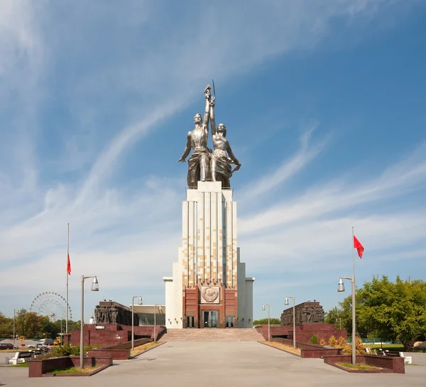
{"label": "wide low stone staircase leading up to the monument's pedestal", "polygon": [[160,341],[265,341],[256,329],[167,329]]}

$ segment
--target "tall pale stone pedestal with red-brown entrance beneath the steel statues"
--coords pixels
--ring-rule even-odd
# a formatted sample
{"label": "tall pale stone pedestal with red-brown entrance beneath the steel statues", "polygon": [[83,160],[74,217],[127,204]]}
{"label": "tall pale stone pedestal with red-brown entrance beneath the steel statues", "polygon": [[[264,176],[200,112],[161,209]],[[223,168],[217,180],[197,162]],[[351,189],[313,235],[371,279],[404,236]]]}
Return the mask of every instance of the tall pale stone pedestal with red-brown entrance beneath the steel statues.
{"label": "tall pale stone pedestal with red-brown entrance beneath the steel statues", "polygon": [[253,327],[253,277],[237,247],[236,203],[220,182],[198,181],[182,203],[182,247],[165,282],[168,328]]}

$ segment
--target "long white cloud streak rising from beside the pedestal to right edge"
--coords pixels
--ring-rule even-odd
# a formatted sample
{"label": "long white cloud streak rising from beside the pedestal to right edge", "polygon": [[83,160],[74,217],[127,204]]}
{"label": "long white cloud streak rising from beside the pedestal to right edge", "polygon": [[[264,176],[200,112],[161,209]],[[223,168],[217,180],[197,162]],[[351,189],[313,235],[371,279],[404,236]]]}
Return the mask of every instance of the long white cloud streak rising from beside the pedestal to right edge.
{"label": "long white cloud streak rising from beside the pedestal to right edge", "polygon": [[[278,201],[266,211],[244,218],[239,223],[242,233],[253,233],[279,225],[296,223],[354,211],[363,204],[374,204],[384,198],[398,197],[426,184],[424,146],[403,161],[390,166],[374,178],[335,179],[317,184],[306,194]],[[368,172],[367,172],[368,173]],[[273,173],[275,174],[275,172]]]}

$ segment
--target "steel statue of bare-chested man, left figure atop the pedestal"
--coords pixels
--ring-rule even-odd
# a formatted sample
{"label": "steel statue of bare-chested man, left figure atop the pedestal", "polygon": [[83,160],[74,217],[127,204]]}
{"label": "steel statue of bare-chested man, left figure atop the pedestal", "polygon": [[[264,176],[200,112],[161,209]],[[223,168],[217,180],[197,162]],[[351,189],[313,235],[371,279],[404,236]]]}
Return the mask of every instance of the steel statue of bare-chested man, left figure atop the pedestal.
{"label": "steel statue of bare-chested man, left figure atop the pedestal", "polygon": [[188,154],[193,149],[190,159],[188,159],[188,177],[187,184],[189,188],[196,189],[197,181],[206,181],[209,176],[210,153],[207,147],[207,139],[209,138],[209,108],[211,91],[210,85],[204,90],[206,97],[206,106],[204,110],[204,119],[201,120],[200,113],[194,116],[195,129],[187,134],[187,144],[182,157],[178,161],[185,162]]}

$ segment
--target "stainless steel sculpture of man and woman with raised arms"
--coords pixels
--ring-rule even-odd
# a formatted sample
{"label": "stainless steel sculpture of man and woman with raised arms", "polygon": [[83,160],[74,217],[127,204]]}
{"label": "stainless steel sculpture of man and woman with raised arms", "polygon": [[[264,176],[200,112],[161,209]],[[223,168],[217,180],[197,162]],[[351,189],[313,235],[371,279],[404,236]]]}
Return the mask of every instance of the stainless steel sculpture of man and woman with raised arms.
{"label": "stainless steel sculpture of man and woman with raised arms", "polygon": [[[188,159],[187,185],[190,189],[197,188],[197,181],[222,181],[222,188],[230,188],[229,179],[232,176],[231,164],[235,164],[234,171],[238,171],[241,164],[232,153],[231,146],[226,137],[226,127],[219,124],[216,128],[214,117],[215,97],[212,97],[212,87],[207,85],[204,89],[205,110],[204,118],[200,113],[194,116],[195,129],[187,134],[187,144],[182,157],[178,161],[185,162],[185,159],[193,149],[190,159]],[[209,121],[212,127],[213,149],[207,147],[209,137]]]}

